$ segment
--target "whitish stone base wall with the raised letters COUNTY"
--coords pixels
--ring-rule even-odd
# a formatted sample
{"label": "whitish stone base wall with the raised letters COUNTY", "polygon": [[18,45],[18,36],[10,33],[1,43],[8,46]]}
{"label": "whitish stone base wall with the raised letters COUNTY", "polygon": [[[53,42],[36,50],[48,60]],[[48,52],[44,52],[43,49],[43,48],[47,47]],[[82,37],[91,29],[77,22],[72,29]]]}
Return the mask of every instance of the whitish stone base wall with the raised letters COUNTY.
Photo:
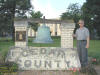
{"label": "whitish stone base wall with the raised letters COUNTY", "polygon": [[81,67],[77,51],[72,48],[28,47],[20,50],[19,56],[16,51],[14,56],[17,55],[16,62],[22,70],[68,70]]}

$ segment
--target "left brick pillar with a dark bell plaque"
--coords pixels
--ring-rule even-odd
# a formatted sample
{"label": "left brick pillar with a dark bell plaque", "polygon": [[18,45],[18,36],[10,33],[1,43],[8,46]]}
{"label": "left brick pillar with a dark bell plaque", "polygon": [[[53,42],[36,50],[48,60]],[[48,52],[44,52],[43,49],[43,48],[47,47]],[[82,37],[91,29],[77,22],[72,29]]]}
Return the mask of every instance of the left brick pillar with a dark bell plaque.
{"label": "left brick pillar with a dark bell plaque", "polygon": [[28,44],[27,21],[15,21],[15,46],[22,47]]}

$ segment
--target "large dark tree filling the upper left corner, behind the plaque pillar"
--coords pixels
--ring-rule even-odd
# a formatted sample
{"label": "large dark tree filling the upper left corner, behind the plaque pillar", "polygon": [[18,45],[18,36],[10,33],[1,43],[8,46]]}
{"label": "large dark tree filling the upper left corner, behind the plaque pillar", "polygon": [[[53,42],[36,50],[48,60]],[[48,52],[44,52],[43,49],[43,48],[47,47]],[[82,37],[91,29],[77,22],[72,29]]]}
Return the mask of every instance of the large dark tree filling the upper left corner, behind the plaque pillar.
{"label": "large dark tree filling the upper left corner, behind the plaque pillar", "polygon": [[[0,23],[2,22],[2,26],[5,25],[3,32],[6,32],[6,28],[10,24],[10,32],[12,32],[12,35],[14,36],[15,15],[25,17],[26,12],[29,11],[31,7],[30,0],[0,0]],[[7,22],[9,22],[9,24]],[[0,26],[1,29],[2,26]]]}

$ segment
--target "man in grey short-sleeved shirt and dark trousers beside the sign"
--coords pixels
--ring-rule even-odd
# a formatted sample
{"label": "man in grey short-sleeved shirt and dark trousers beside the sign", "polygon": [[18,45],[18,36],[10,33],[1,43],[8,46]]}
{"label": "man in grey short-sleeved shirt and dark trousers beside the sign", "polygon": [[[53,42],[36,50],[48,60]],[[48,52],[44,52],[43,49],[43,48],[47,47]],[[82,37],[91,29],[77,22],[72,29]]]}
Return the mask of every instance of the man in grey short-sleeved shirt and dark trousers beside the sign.
{"label": "man in grey short-sleeved shirt and dark trousers beside the sign", "polygon": [[88,51],[87,48],[89,48],[89,30],[84,27],[84,20],[79,20],[79,26],[73,35],[73,37],[76,37],[77,39],[77,50],[79,54],[79,59],[82,67],[87,66],[88,64]]}

